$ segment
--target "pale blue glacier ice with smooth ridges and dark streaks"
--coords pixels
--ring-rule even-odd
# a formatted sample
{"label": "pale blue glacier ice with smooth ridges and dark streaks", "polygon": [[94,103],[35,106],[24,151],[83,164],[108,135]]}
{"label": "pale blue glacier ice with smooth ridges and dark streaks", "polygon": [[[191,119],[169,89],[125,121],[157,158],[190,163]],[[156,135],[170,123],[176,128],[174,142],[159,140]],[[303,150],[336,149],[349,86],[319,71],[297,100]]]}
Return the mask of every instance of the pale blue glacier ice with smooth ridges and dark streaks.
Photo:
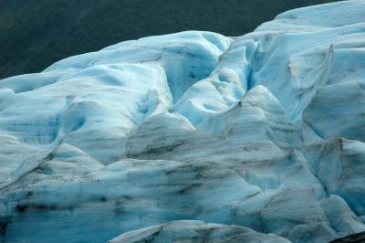
{"label": "pale blue glacier ice with smooth ridges and dark streaks", "polygon": [[328,242],[364,222],[363,0],[0,80],[1,242]]}

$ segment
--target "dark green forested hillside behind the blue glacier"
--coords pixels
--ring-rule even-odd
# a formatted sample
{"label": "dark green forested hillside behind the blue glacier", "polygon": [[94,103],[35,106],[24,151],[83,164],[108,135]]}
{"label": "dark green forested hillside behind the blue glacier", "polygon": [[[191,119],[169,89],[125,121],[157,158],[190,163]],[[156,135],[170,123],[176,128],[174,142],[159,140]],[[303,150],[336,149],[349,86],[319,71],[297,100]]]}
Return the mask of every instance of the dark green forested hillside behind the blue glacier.
{"label": "dark green forested hillside behind the blue glacier", "polygon": [[199,29],[241,36],[330,0],[0,0],[0,79],[122,40]]}

